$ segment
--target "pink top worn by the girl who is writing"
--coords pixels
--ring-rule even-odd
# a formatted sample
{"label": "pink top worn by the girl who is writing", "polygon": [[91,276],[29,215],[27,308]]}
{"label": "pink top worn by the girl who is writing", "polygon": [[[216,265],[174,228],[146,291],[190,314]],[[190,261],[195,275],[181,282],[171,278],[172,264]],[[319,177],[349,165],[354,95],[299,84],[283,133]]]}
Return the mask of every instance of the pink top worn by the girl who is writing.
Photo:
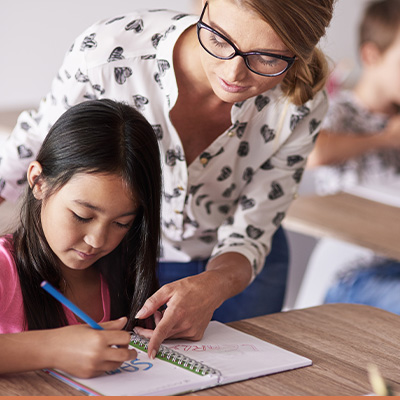
{"label": "pink top worn by the girl who is writing", "polygon": [[[7,239],[10,238],[11,236],[7,236]],[[17,333],[26,330],[25,312],[17,267],[8,250],[8,243],[5,237],[0,237],[0,333]],[[104,315],[98,322],[109,321],[110,293],[103,276],[101,276],[101,298]],[[68,308],[64,307],[64,312],[69,325],[80,323]]]}

